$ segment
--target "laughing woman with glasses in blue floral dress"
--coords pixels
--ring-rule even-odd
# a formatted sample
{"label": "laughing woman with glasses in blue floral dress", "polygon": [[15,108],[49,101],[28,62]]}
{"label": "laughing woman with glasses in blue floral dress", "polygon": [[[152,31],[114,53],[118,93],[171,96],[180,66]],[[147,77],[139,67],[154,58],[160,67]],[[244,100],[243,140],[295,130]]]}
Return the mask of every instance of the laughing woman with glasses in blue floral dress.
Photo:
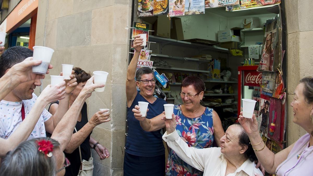
{"label": "laughing woman with glasses in blue floral dress", "polygon": [[[204,82],[201,78],[188,76],[181,85],[180,96],[183,105],[174,106],[176,131],[189,147],[209,148],[212,147],[213,141],[219,147],[221,143],[219,139],[224,135],[218,114],[213,109],[200,104],[204,90]],[[132,111],[145,131],[152,132],[165,127],[162,120],[163,113],[151,119],[141,116],[139,106],[135,106]],[[203,172],[188,165],[171,149],[167,160],[166,175],[201,176]]]}

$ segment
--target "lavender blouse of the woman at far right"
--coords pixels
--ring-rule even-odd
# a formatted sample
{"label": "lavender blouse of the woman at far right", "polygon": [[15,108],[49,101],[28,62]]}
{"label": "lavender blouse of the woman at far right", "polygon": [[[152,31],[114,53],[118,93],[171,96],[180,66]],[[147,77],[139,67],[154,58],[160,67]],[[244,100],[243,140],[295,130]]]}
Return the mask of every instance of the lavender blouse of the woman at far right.
{"label": "lavender blouse of the woman at far right", "polygon": [[276,168],[278,176],[313,175],[313,146],[309,147],[309,141],[310,134],[306,133],[295,142],[287,159]]}

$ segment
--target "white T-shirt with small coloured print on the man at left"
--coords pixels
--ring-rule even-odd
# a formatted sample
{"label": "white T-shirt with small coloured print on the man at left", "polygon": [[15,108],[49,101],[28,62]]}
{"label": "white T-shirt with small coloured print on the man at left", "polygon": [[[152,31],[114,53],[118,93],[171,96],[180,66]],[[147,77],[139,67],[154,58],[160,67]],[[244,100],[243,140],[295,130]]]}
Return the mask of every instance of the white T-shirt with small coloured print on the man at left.
{"label": "white T-shirt with small coloured print on the man at left", "polygon": [[[0,101],[0,137],[7,139],[13,134],[17,127],[22,123],[22,103],[25,110],[25,118],[32,109],[37,96],[33,93],[33,98],[30,100],[23,100],[20,102]],[[44,122],[50,119],[52,115],[44,109],[41,113],[39,120],[33,129],[33,132],[28,137],[29,139],[46,137],[46,129]]]}

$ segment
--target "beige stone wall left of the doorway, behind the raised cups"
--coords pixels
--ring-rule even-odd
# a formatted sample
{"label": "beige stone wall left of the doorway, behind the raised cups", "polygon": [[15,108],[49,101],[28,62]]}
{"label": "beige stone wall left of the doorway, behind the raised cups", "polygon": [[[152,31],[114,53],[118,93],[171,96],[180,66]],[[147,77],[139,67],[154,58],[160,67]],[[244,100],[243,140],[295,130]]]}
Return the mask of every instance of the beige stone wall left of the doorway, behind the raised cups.
{"label": "beige stone wall left of the doorway, behind the raised cups", "polygon": [[73,64],[92,73],[109,72],[104,92],[87,99],[88,117],[109,108],[112,120],[101,124],[92,137],[105,146],[110,158],[100,161],[93,151],[94,175],[123,175],[131,0],[39,0],[35,45],[55,50],[43,87],[50,75],[59,75],[61,64]]}

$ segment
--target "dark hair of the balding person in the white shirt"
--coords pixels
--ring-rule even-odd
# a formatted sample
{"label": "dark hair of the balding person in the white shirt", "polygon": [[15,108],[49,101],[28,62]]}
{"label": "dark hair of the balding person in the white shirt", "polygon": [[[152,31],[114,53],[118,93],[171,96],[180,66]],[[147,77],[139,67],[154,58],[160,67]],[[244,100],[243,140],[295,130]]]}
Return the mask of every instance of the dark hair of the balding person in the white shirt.
{"label": "dark hair of the balding person in the white shirt", "polygon": [[239,123],[235,123],[234,125],[237,125],[241,128],[241,132],[238,135],[239,144],[248,146],[248,149],[244,152],[244,157],[249,158],[249,160],[252,162],[258,160],[258,158],[256,157],[253,151],[252,145],[250,144],[250,139],[248,137],[248,134],[244,131],[244,128]]}

